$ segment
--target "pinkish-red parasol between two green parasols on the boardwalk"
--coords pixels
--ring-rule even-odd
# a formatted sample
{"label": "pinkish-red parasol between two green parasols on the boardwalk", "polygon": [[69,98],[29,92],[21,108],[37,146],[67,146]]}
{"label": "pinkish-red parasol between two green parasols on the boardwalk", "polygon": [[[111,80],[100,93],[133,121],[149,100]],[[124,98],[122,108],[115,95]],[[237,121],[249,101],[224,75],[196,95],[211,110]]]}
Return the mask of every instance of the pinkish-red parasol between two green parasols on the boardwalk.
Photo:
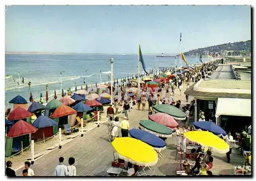
{"label": "pinkish-red parasol between two green parasols on the boardwalk", "polygon": [[148,116],[148,118],[152,121],[155,121],[159,124],[163,124],[165,126],[168,126],[170,128],[175,128],[177,125],[177,121],[170,115],[165,113],[156,113]]}

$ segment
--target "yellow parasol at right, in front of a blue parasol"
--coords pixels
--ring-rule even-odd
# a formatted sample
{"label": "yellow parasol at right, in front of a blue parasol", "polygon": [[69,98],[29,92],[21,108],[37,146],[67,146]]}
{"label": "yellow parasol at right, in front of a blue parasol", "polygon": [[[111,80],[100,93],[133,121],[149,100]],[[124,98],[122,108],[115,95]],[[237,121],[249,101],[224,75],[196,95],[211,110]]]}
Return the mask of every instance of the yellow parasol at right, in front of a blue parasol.
{"label": "yellow parasol at right, in front of a blue parasol", "polygon": [[216,152],[226,153],[229,151],[229,145],[223,139],[212,134],[211,132],[193,131],[183,134],[188,140],[199,143],[204,147],[211,147]]}

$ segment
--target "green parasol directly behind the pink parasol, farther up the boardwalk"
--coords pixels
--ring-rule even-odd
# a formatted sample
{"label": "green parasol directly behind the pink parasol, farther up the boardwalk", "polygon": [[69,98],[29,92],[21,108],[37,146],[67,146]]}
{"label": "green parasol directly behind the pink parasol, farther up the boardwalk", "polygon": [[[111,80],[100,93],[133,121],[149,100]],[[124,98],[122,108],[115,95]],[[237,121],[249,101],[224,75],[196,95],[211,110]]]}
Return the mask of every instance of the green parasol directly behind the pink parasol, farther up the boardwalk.
{"label": "green parasol directly behind the pink parasol, farther up the boardwalk", "polygon": [[184,120],[186,119],[186,115],[180,109],[176,108],[175,106],[170,105],[156,105],[153,107],[155,112],[166,113],[172,116],[174,119],[177,120]]}

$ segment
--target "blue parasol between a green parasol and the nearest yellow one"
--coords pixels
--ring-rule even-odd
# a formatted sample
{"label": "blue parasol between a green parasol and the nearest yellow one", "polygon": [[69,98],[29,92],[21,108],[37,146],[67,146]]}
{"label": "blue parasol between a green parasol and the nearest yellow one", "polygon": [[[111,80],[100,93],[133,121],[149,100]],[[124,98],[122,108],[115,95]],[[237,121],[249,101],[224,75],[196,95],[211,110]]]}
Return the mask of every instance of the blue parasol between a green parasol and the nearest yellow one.
{"label": "blue parasol between a green parasol and the nearest yellow one", "polygon": [[152,146],[157,151],[161,151],[166,148],[166,143],[161,138],[158,138],[156,135],[153,135],[152,133],[148,133],[144,130],[138,130],[133,128],[132,130],[129,130],[129,134],[131,135],[132,138],[138,139]]}

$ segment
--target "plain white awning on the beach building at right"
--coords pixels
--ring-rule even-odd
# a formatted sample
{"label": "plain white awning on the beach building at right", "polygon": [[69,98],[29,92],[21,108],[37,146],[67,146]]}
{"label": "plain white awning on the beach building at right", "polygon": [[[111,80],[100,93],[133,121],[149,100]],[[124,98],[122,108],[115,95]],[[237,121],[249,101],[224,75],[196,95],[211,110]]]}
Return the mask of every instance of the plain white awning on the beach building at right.
{"label": "plain white awning on the beach building at right", "polygon": [[251,99],[242,98],[218,98],[216,117],[251,116]]}

